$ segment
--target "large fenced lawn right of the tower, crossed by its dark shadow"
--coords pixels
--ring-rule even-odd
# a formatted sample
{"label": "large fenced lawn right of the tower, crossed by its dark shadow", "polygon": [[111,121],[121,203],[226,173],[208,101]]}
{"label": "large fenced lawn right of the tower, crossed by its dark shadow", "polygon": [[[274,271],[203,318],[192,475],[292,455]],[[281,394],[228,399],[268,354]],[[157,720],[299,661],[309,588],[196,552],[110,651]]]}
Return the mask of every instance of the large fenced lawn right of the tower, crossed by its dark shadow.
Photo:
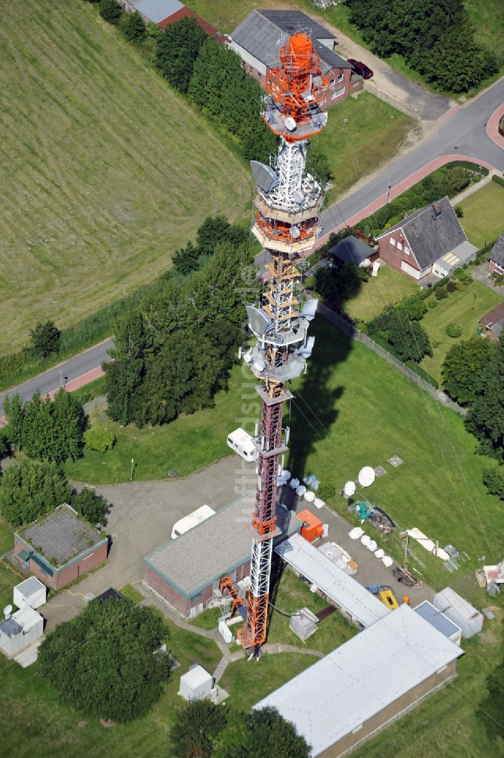
{"label": "large fenced lawn right of the tower, crossed by its dark shadow", "polygon": [[[498,559],[502,503],[486,493],[481,473],[487,459],[474,455],[475,440],[462,418],[323,319],[310,331],[315,349],[308,372],[291,387],[296,400],[286,468],[298,478],[314,473],[338,491],[362,466],[383,465],[387,475],[366,495],[402,528],[417,526],[440,545],[465,550],[471,562],[464,572],[473,576],[477,556],[488,557],[491,549]],[[404,461],[399,468],[387,463],[393,455]],[[347,515],[340,496],[330,505]],[[401,559],[401,544],[395,530],[384,547]],[[424,580],[446,586],[440,560],[421,548],[418,553],[427,565]]]}

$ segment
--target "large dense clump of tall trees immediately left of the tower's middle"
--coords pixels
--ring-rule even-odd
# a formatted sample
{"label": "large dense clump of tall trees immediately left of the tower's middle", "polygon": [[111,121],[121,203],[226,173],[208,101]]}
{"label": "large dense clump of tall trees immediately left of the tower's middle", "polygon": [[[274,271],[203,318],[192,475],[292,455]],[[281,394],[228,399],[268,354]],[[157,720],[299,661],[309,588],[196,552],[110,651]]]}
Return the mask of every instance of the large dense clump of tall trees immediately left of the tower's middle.
{"label": "large dense clump of tall trees immediately left of the tower's middle", "polygon": [[[197,247],[207,258],[204,268],[166,277],[162,290],[150,292],[115,325],[114,360],[104,369],[108,415],[122,425],[167,423],[211,406],[227,386],[244,302],[258,296],[256,268],[249,243],[219,242],[224,224],[207,219],[203,226]],[[241,230],[227,227],[239,240]],[[180,267],[182,260],[180,251]]]}

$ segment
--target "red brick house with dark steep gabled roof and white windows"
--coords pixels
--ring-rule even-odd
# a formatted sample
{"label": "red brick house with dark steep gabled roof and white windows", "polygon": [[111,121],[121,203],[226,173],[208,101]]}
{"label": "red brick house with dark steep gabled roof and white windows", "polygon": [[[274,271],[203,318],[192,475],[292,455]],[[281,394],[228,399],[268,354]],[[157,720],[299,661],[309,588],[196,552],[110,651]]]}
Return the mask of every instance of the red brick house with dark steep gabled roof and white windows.
{"label": "red brick house with dark steep gabled roof and white windows", "polygon": [[431,273],[450,276],[477,255],[447,197],[419,208],[376,240],[383,261],[417,280]]}

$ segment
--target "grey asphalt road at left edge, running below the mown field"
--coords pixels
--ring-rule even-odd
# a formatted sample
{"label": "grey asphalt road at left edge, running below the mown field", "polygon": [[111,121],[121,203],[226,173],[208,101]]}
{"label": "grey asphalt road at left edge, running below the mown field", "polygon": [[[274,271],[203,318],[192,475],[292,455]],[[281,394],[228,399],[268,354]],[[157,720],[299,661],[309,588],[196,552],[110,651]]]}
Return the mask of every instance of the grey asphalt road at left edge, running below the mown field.
{"label": "grey asphalt road at left edge, running below the mown field", "polygon": [[110,360],[107,350],[110,350],[112,347],[114,347],[112,340],[102,342],[85,352],[81,352],[79,356],[70,358],[70,360],[55,366],[55,368],[50,368],[49,371],[45,371],[45,374],[40,374],[35,379],[30,379],[24,384],[20,384],[19,387],[0,394],[0,417],[4,415],[4,400],[6,396],[18,393],[23,399],[30,400],[36,390],[40,390],[42,395],[46,395],[60,386],[60,371],[63,372],[64,383],[78,379],[83,374],[87,374],[88,371],[92,371],[93,368],[101,366],[103,361]]}

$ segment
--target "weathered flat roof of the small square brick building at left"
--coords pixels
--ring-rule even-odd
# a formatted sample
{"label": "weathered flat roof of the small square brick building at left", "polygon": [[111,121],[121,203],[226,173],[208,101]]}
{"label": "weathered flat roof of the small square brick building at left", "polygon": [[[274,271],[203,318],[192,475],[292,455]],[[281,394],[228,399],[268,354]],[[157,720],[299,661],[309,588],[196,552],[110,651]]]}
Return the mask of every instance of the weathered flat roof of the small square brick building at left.
{"label": "weathered flat roof of the small square brick building at left", "polygon": [[18,534],[52,565],[62,565],[77,558],[103,541],[99,532],[81,521],[66,503]]}

